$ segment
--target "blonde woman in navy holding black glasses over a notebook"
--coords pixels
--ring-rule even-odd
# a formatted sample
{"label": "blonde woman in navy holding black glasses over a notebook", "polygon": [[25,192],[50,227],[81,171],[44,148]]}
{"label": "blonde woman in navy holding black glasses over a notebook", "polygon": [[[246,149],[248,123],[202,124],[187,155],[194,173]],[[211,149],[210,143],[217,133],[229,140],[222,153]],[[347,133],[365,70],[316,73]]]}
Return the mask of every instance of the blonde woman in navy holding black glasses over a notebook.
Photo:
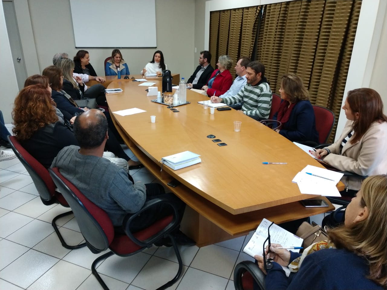
{"label": "blonde woman in navy holding black glasses over a notebook", "polygon": [[[368,177],[345,211],[344,225],[327,230],[329,241],[312,244],[303,254],[271,244],[270,289],[387,288],[387,176]],[[262,256],[255,256],[264,271]],[[289,278],[283,270],[291,269]],[[265,271],[264,271],[265,272]]]}

